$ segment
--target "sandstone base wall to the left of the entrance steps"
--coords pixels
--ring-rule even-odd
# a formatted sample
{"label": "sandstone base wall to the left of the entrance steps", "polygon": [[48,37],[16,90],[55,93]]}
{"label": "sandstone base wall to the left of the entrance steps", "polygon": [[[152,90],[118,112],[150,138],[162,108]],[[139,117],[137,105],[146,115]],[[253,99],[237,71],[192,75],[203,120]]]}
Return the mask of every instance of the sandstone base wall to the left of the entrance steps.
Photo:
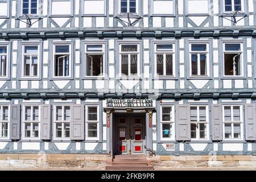
{"label": "sandstone base wall to the left of the entrance steps", "polygon": [[0,168],[97,168],[109,159],[98,154],[0,154]]}

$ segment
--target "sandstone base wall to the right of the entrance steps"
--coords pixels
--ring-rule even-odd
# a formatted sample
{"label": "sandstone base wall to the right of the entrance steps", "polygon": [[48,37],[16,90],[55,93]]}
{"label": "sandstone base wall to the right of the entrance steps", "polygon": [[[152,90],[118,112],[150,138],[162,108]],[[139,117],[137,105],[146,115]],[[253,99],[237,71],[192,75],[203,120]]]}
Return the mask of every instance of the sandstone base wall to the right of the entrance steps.
{"label": "sandstone base wall to the right of the entrance steps", "polygon": [[177,167],[253,167],[256,168],[256,156],[253,155],[157,155],[148,158],[155,168]]}

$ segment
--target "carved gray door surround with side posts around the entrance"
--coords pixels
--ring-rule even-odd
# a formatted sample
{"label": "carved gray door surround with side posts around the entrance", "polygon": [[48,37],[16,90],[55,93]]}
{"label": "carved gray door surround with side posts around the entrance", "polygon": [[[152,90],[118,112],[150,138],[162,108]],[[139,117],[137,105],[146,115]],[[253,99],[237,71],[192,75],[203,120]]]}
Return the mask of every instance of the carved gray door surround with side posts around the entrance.
{"label": "carved gray door surround with side posts around the entrance", "polygon": [[[152,144],[152,113],[156,111],[155,107],[104,107],[106,112],[106,155],[113,158],[113,114],[115,113],[144,113],[146,114],[146,148],[153,150]],[[150,127],[151,126],[151,127]],[[151,157],[150,151],[146,155]]]}

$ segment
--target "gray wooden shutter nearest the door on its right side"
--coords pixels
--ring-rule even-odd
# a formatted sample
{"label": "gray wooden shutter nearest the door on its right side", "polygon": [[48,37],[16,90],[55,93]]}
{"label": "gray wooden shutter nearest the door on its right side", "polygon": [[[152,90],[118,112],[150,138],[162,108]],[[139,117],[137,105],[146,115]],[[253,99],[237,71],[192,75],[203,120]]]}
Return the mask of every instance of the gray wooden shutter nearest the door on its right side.
{"label": "gray wooden shutter nearest the door on its right side", "polygon": [[176,105],[176,140],[190,140],[190,106]]}

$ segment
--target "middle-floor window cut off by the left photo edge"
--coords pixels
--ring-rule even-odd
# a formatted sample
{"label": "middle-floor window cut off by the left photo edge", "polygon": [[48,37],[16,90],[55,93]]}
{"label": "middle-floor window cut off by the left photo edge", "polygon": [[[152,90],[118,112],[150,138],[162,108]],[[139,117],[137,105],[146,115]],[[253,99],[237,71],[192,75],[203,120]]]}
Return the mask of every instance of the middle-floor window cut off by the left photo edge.
{"label": "middle-floor window cut off by the left photo edge", "polygon": [[0,44],[0,78],[7,77],[7,70],[8,70],[7,50],[8,50],[8,46]]}

